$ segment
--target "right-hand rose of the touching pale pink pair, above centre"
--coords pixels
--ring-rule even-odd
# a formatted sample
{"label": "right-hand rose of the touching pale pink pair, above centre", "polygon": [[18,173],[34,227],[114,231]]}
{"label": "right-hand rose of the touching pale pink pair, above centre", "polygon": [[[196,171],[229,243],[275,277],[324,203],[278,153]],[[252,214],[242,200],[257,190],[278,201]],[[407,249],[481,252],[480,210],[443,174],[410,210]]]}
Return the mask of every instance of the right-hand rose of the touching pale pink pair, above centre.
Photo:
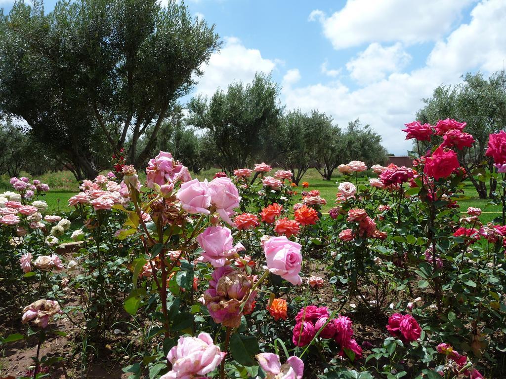
{"label": "right-hand rose of the touching pale pink pair, above centre", "polygon": [[234,208],[239,206],[241,197],[235,184],[229,177],[218,177],[208,184],[211,204],[216,207],[220,217],[229,225],[233,225],[230,216],[235,214]]}

